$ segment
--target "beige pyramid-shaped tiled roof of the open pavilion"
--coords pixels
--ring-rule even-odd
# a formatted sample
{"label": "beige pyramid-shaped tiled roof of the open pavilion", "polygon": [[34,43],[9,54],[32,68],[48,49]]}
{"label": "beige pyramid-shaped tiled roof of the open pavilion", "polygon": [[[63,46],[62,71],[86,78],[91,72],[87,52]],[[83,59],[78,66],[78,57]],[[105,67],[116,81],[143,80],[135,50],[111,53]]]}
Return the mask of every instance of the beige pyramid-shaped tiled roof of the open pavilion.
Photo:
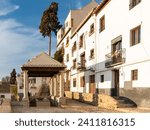
{"label": "beige pyramid-shaped tiled roof of the open pavilion", "polygon": [[32,58],[23,67],[65,67],[60,62],[51,58],[47,53],[42,52],[37,55],[35,58]]}

